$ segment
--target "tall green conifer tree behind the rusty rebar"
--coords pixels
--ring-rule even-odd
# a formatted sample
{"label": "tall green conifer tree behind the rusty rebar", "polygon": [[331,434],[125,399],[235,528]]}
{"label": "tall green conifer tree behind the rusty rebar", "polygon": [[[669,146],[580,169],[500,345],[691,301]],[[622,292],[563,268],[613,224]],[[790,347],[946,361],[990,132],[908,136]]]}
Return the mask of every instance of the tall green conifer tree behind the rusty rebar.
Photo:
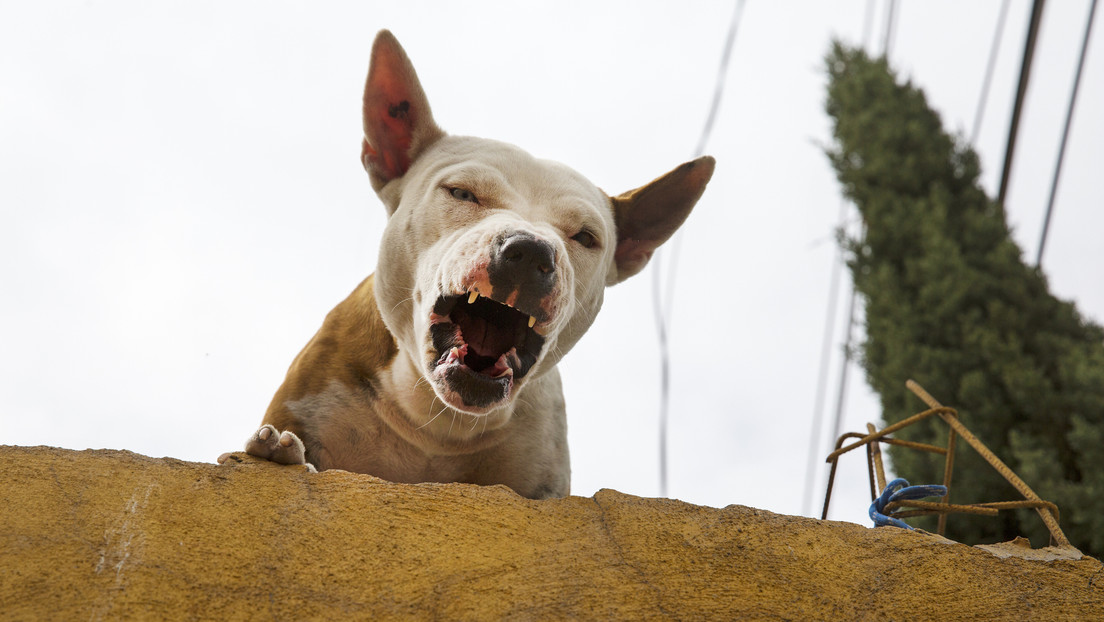
{"label": "tall green conifer tree behind the rusty rebar", "polygon": [[[828,157],[866,228],[842,236],[866,303],[861,362],[885,421],[925,407],[912,378],[965,423],[1042,498],[1062,510],[1074,546],[1104,554],[1104,329],[1050,294],[1023,263],[1004,208],[978,185],[978,159],[947,135],[924,94],[899,84],[884,60],[839,43],[827,56]],[[944,443],[928,421],[901,437]],[[914,484],[943,479],[942,458],[891,451]],[[952,503],[1018,498],[959,443]],[[922,525],[932,529],[934,519]],[[947,535],[967,541],[1027,535],[1047,544],[1031,510],[1000,519],[953,515]]]}

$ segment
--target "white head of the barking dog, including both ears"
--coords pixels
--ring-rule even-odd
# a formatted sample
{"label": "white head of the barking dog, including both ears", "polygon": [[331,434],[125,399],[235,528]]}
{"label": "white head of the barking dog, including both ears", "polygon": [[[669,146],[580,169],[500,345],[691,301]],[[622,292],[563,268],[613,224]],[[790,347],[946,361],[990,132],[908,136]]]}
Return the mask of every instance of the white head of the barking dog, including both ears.
{"label": "white head of the barking dog, including both ears", "polygon": [[512,145],[448,136],[388,31],[372,48],[361,158],[390,215],[375,274],[384,321],[437,397],[471,414],[551,369],[713,173],[704,157],[609,197]]}

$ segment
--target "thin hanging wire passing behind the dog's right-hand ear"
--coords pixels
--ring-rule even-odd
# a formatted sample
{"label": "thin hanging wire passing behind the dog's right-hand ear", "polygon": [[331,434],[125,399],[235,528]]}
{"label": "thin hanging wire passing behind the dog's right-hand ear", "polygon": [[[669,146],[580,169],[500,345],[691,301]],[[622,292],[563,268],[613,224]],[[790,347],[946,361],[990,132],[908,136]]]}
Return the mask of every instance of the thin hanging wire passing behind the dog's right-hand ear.
{"label": "thin hanging wire passing behind the dog's right-hand ear", "polygon": [[[713,134],[713,124],[716,120],[716,113],[721,106],[721,95],[724,93],[724,82],[729,73],[729,60],[732,57],[732,48],[736,42],[736,31],[740,28],[740,18],[744,12],[746,0],[736,0],[732,11],[732,20],[729,23],[729,33],[724,40],[724,49],[721,52],[721,64],[716,72],[716,81],[713,85],[713,99],[710,104],[709,116],[705,117],[705,125],[702,127],[701,136],[698,139],[698,147],[694,150],[694,158],[701,157],[705,152],[705,145]],[[678,260],[681,246],[681,235],[676,234],[671,245],[670,264],[668,265],[666,299],[661,296],[662,284],[659,274],[662,267],[662,250],[656,252],[652,260],[651,270],[651,303],[652,312],[656,316],[656,338],[659,345],[659,496],[667,496],[667,428],[668,411],[670,407],[670,344],[668,341],[668,330],[671,320],[671,306],[675,299],[675,285],[678,280]]]}

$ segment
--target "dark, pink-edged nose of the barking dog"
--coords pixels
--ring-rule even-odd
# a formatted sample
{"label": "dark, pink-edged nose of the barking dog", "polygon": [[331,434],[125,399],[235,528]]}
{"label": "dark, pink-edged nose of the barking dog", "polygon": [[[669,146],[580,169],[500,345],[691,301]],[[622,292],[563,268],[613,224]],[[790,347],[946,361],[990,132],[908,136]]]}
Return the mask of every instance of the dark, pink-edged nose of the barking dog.
{"label": "dark, pink-edged nose of the barking dog", "polygon": [[555,285],[555,249],[530,233],[501,238],[491,252],[487,276],[491,287],[506,295],[518,292],[519,308],[540,305]]}

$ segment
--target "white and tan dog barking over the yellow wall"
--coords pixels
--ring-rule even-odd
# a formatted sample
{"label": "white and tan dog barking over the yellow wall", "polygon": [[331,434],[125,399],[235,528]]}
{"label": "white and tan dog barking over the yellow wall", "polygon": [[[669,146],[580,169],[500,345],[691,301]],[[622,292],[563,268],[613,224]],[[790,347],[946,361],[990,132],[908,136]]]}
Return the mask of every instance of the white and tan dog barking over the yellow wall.
{"label": "white and tan dog barking over the yellow wall", "polygon": [[[372,45],[361,160],[389,220],[375,274],[291,362],[247,454],[400,483],[570,494],[556,363],[713,173],[609,197],[512,145],[445,134],[405,51]],[[232,454],[223,454],[224,463]]]}

